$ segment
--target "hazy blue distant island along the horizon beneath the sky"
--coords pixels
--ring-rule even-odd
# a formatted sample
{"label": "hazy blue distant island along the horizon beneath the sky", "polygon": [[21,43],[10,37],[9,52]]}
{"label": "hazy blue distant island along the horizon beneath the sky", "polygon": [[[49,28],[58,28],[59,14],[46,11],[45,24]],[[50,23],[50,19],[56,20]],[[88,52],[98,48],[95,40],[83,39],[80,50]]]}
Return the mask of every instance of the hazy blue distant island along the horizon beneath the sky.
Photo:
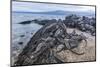
{"label": "hazy blue distant island along the horizon beneath the sky", "polygon": [[16,13],[31,13],[31,14],[48,14],[48,15],[70,15],[70,14],[76,14],[79,16],[93,16],[95,17],[95,14],[91,12],[74,12],[74,11],[63,11],[63,10],[55,10],[55,11],[44,11],[44,12],[25,12],[25,11],[13,11]]}

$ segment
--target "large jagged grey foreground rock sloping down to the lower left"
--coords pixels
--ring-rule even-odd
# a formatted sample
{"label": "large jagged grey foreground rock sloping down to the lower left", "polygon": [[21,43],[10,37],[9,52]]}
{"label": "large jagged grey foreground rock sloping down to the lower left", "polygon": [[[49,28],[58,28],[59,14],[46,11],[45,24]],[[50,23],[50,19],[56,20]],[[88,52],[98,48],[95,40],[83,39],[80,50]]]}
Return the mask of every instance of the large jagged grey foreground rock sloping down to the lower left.
{"label": "large jagged grey foreground rock sloping down to the lower left", "polygon": [[62,63],[64,61],[57,56],[56,52],[67,49],[82,54],[80,50],[83,51],[85,47],[77,49],[82,40],[85,40],[83,35],[78,35],[75,31],[69,34],[66,25],[61,21],[48,23],[33,35],[19,54],[15,65]]}

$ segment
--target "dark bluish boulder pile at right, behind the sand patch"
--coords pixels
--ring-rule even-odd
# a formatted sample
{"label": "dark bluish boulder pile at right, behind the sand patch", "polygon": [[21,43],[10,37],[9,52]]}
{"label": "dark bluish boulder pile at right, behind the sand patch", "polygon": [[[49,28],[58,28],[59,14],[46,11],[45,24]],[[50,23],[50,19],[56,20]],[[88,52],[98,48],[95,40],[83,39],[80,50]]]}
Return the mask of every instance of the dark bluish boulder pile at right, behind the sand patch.
{"label": "dark bluish boulder pile at right, behind the sand patch", "polygon": [[86,16],[79,17],[77,15],[69,15],[65,17],[63,22],[67,27],[77,28],[84,32],[89,31],[90,33],[93,33],[96,29],[96,19]]}

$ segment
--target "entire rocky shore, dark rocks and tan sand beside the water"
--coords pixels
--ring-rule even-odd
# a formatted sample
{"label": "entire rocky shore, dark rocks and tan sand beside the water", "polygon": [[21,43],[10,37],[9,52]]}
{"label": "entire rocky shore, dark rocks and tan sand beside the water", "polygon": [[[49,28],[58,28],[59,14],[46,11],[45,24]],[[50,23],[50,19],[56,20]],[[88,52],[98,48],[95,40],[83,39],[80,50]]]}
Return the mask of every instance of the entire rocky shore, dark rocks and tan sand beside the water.
{"label": "entire rocky shore, dark rocks and tan sand beside the water", "polygon": [[[17,54],[16,60],[13,59],[14,62],[12,63],[12,66],[13,65],[22,66],[22,65],[33,65],[33,64],[45,64],[45,63],[47,64],[48,63],[63,63],[63,62],[75,62],[75,61],[76,62],[77,61],[94,61],[95,60],[95,35],[96,35],[95,20],[96,20],[95,18],[70,15],[70,16],[66,16],[64,20],[62,19],[59,19],[59,20],[34,19],[34,20],[23,21],[23,22],[18,23],[22,25],[37,23],[39,25],[43,25],[43,27],[39,29],[34,35],[31,32],[32,38],[29,39],[29,42],[27,43],[25,47],[23,47],[23,50],[20,51],[19,54]],[[72,29],[73,31],[70,32],[70,29]],[[80,32],[83,33],[83,35],[80,35],[81,34]],[[93,38],[93,43],[92,43],[93,46],[91,47],[93,48],[93,50],[91,50],[90,46],[88,46],[86,47],[85,54],[83,54],[84,48],[79,49],[80,47],[78,47],[77,44],[81,42],[80,40],[85,40],[84,39],[85,37],[87,38],[87,45],[90,45],[90,40],[88,40],[89,37],[87,35]],[[25,36],[26,35],[24,34],[20,35],[21,38],[24,38]],[[71,50],[71,52],[70,50],[68,51],[68,49],[71,49],[72,46],[69,46],[68,43],[66,43],[67,50],[66,48],[63,48],[65,47],[64,46],[64,43],[66,40],[65,37],[67,37],[67,40],[68,40],[68,38],[70,38],[69,36],[72,38],[70,39],[71,42],[74,43],[74,44],[72,43],[71,45],[75,47],[75,49]],[[23,45],[24,43],[18,42],[18,44]],[[49,46],[46,46],[47,44]],[[82,47],[84,47],[84,45]],[[93,52],[92,54],[90,54],[91,53],[90,50]],[[55,53],[56,51],[58,52],[60,51],[60,52]],[[82,55],[73,54],[73,51],[76,51],[75,52],[76,54],[82,54]],[[66,55],[63,55],[62,52],[66,53]],[[68,56],[70,56],[69,59],[68,59]],[[91,58],[89,59],[90,56]],[[67,60],[63,60],[64,57]],[[84,59],[84,58],[87,58],[87,59]]]}

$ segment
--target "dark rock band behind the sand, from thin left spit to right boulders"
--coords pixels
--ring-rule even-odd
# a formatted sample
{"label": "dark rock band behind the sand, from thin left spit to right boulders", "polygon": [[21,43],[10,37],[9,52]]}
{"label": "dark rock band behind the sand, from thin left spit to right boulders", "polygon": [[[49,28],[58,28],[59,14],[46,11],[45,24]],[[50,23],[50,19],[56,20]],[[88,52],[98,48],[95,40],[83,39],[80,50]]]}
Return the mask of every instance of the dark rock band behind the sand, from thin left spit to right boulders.
{"label": "dark rock band behind the sand, from thin left spit to right boulders", "polygon": [[77,16],[77,15],[69,15],[66,16],[64,20],[62,19],[44,19],[44,20],[30,20],[30,21],[23,21],[19,24],[30,24],[30,23],[37,23],[39,25],[45,25],[47,23],[54,23],[54,22],[62,22],[65,23],[65,25],[69,28],[77,28],[78,30],[81,30],[83,32],[90,33],[92,36],[96,35],[96,19],[95,17],[89,18],[86,16]]}

